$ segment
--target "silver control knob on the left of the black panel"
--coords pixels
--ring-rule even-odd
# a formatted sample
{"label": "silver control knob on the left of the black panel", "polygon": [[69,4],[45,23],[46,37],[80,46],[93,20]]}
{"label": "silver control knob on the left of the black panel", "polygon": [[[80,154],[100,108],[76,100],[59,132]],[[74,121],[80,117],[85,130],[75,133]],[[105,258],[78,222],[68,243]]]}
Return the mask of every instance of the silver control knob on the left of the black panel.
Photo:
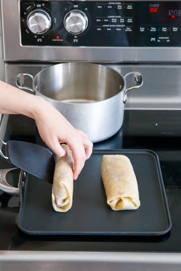
{"label": "silver control knob on the left of the black panel", "polygon": [[27,17],[27,26],[34,34],[44,34],[51,27],[51,17],[46,11],[32,11]]}

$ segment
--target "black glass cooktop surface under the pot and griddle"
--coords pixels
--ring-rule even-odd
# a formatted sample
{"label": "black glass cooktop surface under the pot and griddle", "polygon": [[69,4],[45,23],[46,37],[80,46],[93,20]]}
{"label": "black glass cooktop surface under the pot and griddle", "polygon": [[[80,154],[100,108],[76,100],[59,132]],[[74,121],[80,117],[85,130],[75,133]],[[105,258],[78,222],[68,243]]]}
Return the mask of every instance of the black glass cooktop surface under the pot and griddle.
{"label": "black glass cooktop surface under the pot and griddle", "polygon": [[[154,129],[159,128],[157,126],[161,129],[164,123],[157,123],[158,125],[153,127],[150,124],[156,117],[160,117],[164,122],[166,117],[169,120],[174,114],[177,116],[176,120],[181,120],[180,111],[125,110],[120,131],[112,138],[94,144],[94,149],[149,149],[158,154],[172,221],[170,232],[161,236],[27,235],[17,226],[19,198],[1,191],[0,250],[181,252],[181,142],[180,138],[173,134],[158,136]],[[179,122],[171,123],[171,126],[174,125],[177,129],[181,128]],[[10,139],[44,145],[34,120],[21,115],[9,116],[5,141]],[[1,168],[11,167],[2,157],[0,164]],[[11,182],[12,173],[8,174]],[[14,179],[17,179],[18,173],[13,174]],[[145,193],[149,193],[149,188]]]}

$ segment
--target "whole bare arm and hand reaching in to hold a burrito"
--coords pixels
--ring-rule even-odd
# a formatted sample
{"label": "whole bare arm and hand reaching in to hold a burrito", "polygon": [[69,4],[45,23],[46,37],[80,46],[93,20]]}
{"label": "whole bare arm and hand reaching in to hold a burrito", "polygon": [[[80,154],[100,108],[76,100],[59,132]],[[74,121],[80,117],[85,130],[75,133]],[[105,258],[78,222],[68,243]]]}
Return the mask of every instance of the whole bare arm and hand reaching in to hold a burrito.
{"label": "whole bare arm and hand reaching in to hold a burrito", "polygon": [[66,143],[74,158],[74,179],[92,153],[93,144],[87,135],[75,129],[48,101],[0,81],[0,113],[23,114],[37,122],[39,134],[46,145],[59,157],[66,151]]}

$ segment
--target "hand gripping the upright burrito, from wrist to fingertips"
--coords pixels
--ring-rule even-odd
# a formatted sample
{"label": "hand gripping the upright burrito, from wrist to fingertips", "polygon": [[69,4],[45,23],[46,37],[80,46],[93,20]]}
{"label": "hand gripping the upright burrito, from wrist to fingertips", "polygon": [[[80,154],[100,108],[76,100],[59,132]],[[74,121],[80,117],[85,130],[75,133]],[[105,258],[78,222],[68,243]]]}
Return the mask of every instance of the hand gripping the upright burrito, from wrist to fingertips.
{"label": "hand gripping the upright burrito, from wrist to fingertips", "polygon": [[60,143],[66,143],[74,158],[73,177],[76,180],[93,148],[87,134],[75,129],[50,103],[42,100],[35,116],[39,134],[46,145],[59,157],[66,151]]}

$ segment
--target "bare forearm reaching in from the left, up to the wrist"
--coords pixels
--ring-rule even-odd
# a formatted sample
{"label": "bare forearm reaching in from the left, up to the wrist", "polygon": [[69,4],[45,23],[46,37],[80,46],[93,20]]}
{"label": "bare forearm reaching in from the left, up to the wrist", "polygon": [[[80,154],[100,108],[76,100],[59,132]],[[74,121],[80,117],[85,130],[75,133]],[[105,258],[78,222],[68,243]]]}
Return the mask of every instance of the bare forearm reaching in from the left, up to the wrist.
{"label": "bare forearm reaching in from the left, up to the wrist", "polygon": [[39,96],[29,94],[0,81],[1,114],[23,114],[33,118],[42,101],[44,100]]}

